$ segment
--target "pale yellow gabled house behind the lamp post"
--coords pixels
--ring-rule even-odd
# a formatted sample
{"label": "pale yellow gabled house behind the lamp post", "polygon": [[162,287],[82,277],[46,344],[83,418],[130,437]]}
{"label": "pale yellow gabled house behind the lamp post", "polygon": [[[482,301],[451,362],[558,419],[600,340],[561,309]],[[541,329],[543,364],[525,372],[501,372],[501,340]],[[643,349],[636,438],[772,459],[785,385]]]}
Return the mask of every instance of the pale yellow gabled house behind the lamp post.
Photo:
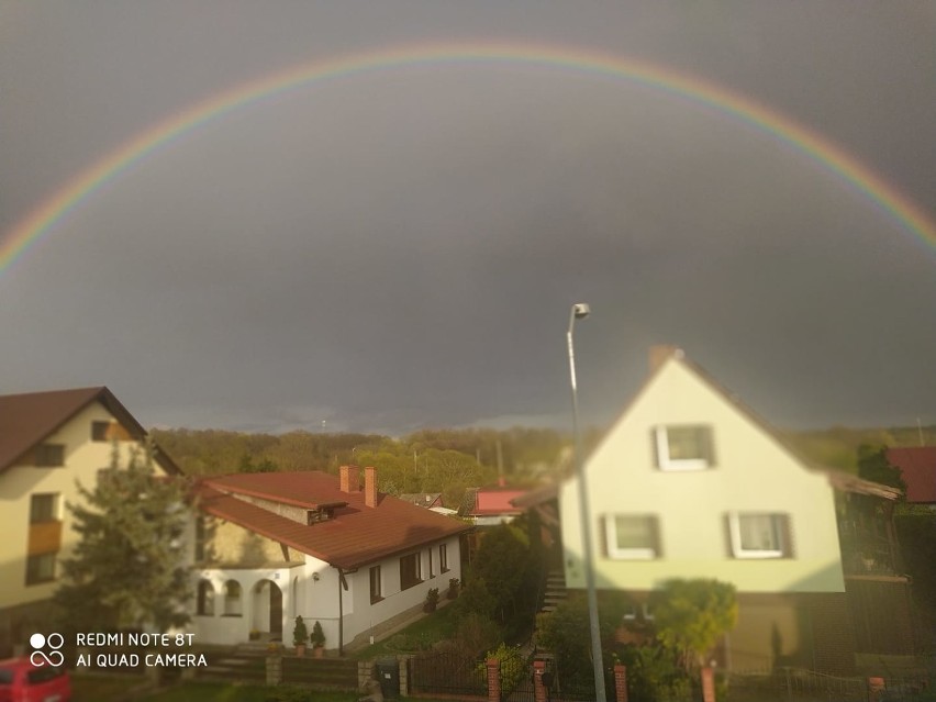
{"label": "pale yellow gabled house behind the lamp post", "polygon": [[[731,582],[739,616],[723,666],[854,668],[831,475],[682,352],[651,353],[649,380],[584,470],[600,590],[626,592],[651,617],[649,594],[668,579]],[[584,587],[577,491],[568,480],[558,495],[570,588]]]}

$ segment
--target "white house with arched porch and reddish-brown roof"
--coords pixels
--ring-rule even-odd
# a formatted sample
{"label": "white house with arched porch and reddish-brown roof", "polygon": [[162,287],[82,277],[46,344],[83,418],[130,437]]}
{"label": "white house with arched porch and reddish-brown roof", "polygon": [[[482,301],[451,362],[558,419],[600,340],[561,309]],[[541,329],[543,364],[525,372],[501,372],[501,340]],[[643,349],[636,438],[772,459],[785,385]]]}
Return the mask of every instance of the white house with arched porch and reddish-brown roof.
{"label": "white house with arched porch and reddish-brown roof", "polygon": [[301,615],[342,650],[461,578],[470,525],[377,492],[374,468],[205,479],[199,491],[191,627],[232,644],[292,642]]}

